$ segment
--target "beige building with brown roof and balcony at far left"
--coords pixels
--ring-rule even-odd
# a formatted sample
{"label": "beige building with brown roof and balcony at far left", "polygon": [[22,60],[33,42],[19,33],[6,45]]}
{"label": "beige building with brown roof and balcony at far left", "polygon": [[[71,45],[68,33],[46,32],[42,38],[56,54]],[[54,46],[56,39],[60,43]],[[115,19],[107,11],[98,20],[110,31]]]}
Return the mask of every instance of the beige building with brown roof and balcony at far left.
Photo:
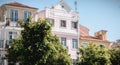
{"label": "beige building with brown roof and balcony at far left", "polygon": [[35,21],[37,8],[30,7],[18,2],[6,3],[0,6],[0,65],[8,65],[7,61],[2,59],[5,57],[5,49],[9,47],[12,39],[20,35],[21,28],[18,21],[23,21],[32,16]]}

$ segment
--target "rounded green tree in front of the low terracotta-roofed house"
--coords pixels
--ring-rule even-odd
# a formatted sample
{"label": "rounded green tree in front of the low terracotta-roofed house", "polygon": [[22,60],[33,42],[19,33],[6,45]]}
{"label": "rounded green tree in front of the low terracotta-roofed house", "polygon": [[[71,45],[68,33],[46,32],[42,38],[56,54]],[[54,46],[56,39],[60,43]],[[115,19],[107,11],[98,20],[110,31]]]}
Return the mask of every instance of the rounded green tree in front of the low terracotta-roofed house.
{"label": "rounded green tree in front of the low terracotta-roofed house", "polygon": [[110,65],[110,55],[104,46],[89,43],[87,46],[80,47],[79,65]]}

